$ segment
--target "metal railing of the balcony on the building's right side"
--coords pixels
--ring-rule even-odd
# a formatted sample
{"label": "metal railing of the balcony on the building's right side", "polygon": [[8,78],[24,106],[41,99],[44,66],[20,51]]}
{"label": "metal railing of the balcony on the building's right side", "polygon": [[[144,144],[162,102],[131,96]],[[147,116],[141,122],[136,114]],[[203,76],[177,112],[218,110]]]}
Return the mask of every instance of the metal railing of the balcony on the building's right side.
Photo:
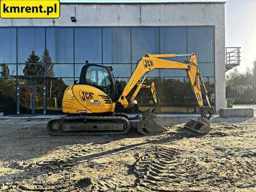
{"label": "metal railing of the balcony on the building's right side", "polygon": [[241,62],[241,47],[226,47],[226,70],[230,70]]}

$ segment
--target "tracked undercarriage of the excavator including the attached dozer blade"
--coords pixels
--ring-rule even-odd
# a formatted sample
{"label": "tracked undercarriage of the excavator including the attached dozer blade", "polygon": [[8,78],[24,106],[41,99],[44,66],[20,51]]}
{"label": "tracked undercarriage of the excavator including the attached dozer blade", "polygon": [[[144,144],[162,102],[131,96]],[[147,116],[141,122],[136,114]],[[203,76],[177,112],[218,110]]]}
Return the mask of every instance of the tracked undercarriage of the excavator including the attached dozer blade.
{"label": "tracked undercarriage of the excavator including the attached dozer blade", "polygon": [[130,128],[137,128],[137,131],[143,135],[146,135],[143,129],[154,133],[166,131],[156,123],[152,110],[144,112],[142,117],[135,118],[128,118],[123,113],[63,116],[51,119],[47,124],[47,131],[52,136],[125,135]]}

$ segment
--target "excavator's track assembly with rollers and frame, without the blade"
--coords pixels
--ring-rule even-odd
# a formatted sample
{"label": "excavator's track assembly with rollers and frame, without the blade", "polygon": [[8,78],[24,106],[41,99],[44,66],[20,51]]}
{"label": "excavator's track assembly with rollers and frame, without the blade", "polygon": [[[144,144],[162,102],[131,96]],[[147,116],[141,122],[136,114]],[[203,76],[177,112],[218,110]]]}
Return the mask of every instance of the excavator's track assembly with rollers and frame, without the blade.
{"label": "excavator's track assembly with rollers and frame, without the blade", "polygon": [[129,130],[129,120],[123,116],[63,116],[47,124],[47,131],[52,136],[123,135]]}

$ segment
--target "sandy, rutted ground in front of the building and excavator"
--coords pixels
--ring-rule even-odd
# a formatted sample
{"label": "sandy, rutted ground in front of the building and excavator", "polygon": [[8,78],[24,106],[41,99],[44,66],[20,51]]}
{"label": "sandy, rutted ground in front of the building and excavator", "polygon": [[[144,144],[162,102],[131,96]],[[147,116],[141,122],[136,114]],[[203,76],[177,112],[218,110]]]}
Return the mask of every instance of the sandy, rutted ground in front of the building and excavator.
{"label": "sandy, rutted ground in front of the building and excavator", "polygon": [[167,132],[46,136],[47,120],[0,120],[0,191],[256,191],[256,120],[157,119]]}

